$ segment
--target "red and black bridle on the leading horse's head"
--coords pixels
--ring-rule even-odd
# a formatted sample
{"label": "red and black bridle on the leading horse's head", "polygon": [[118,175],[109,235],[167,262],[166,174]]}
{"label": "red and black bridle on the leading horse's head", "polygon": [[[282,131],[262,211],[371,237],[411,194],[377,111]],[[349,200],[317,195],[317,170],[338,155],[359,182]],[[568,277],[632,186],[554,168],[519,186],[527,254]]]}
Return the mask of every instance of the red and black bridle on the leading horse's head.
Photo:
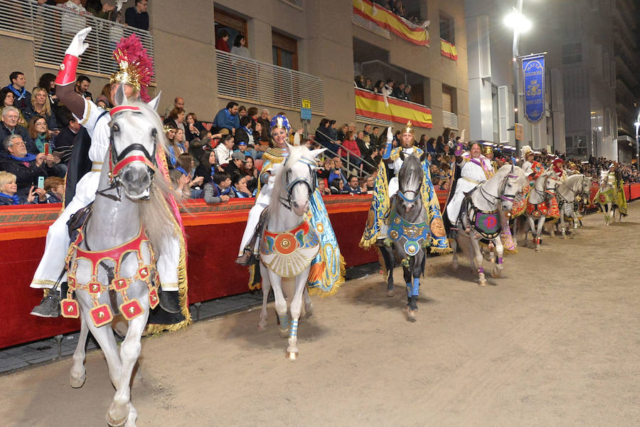
{"label": "red and black bridle on the leading horse's head", "polygon": [[[113,119],[119,113],[126,112],[126,111],[142,114],[139,107],[134,107],[131,105],[120,105],[118,107],[114,107],[111,110],[110,115]],[[120,179],[120,172],[122,172],[122,169],[124,169],[124,167],[126,167],[127,164],[131,164],[131,163],[146,164],[146,167],[149,169],[149,175],[150,175],[149,182],[151,183],[153,181],[156,173],[156,167],[157,167],[156,165],[157,144],[155,143],[155,141],[156,141],[156,138],[158,137],[158,131],[154,129],[151,132],[151,137],[154,138],[154,152],[151,154],[149,154],[149,151],[146,149],[146,147],[144,147],[144,145],[139,144],[138,142],[134,142],[133,144],[130,144],[129,146],[127,146],[127,148],[122,150],[122,152],[118,153],[115,148],[114,133],[119,132],[120,128],[113,121],[110,124],[110,131],[111,131],[109,136],[109,184],[110,185],[106,189],[96,191],[95,194],[107,197],[107,199],[112,199],[114,201],[121,201],[122,196],[120,194],[120,186],[122,185],[122,181]],[[135,155],[135,156],[127,157],[127,154],[129,154],[134,150],[138,150],[142,152],[142,154],[144,155],[143,156]],[[113,194],[106,193],[106,191],[109,191],[112,189],[116,190],[115,196]],[[148,198],[149,196],[146,196],[146,199]]]}

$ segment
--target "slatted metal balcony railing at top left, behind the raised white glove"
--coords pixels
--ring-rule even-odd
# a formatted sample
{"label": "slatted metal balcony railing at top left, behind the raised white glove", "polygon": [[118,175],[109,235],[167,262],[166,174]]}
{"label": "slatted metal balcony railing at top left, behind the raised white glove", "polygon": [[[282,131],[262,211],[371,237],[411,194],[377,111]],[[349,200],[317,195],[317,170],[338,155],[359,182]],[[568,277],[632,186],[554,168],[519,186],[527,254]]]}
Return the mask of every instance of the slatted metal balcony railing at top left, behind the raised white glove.
{"label": "slatted metal balcony railing at top left, behind the raised white glove", "polygon": [[82,71],[104,75],[117,71],[112,52],[120,38],[132,33],[139,36],[149,56],[154,57],[154,39],[149,31],[95,16],[80,16],[69,9],[39,5],[33,0],[0,0],[0,10],[0,30],[33,38],[33,59],[36,63],[58,67],[75,33],[87,26],[93,30],[87,36],[89,48],[82,54],[78,65]]}

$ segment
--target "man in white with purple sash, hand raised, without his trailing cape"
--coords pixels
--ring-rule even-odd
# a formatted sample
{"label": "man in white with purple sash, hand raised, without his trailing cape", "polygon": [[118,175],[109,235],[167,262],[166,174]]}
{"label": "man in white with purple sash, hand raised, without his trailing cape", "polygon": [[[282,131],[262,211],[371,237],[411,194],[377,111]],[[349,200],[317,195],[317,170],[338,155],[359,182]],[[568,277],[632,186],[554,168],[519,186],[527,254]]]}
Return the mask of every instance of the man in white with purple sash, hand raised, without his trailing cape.
{"label": "man in white with purple sash, hand raised, without his trailing cape", "polygon": [[457,226],[462,200],[466,193],[469,193],[469,191],[476,188],[481,182],[491,178],[494,174],[491,161],[481,154],[479,142],[471,144],[469,152],[463,152],[462,143],[459,143],[455,155],[457,165],[461,169],[455,193],[447,204],[447,217],[452,228]]}

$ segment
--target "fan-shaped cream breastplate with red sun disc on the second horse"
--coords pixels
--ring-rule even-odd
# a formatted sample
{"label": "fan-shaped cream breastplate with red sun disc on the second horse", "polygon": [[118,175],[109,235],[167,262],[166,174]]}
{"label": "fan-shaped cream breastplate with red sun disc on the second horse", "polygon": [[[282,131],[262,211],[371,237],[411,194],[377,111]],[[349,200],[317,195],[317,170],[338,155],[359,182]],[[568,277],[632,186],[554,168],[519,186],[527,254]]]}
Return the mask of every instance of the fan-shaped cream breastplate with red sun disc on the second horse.
{"label": "fan-shaped cream breastplate with red sun disc on the second horse", "polygon": [[279,233],[265,229],[260,243],[260,260],[283,278],[293,278],[311,265],[320,251],[320,239],[309,222]]}

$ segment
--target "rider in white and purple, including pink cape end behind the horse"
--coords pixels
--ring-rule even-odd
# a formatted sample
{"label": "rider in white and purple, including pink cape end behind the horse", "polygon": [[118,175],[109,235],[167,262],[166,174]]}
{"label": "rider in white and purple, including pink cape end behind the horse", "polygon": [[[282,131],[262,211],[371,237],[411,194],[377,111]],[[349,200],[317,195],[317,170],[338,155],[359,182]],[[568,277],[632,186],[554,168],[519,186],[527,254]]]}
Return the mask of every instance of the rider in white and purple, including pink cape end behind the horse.
{"label": "rider in white and purple, including pink cape end behind the horse", "polygon": [[[462,140],[462,138],[461,138]],[[493,153],[493,152],[492,152]],[[455,182],[455,190],[451,199],[447,203],[447,219],[451,228],[449,229],[449,238],[458,237],[458,226],[460,224],[460,214],[462,211],[462,202],[469,192],[476,189],[479,184],[491,178],[494,175],[494,167],[491,160],[482,155],[482,146],[479,142],[474,142],[469,147],[469,152],[465,152],[462,142],[459,142],[456,151],[457,167],[460,168],[460,176]],[[508,251],[515,250],[513,236],[509,229],[509,222],[506,219],[506,213],[501,212],[501,233],[500,238],[503,246]]]}

